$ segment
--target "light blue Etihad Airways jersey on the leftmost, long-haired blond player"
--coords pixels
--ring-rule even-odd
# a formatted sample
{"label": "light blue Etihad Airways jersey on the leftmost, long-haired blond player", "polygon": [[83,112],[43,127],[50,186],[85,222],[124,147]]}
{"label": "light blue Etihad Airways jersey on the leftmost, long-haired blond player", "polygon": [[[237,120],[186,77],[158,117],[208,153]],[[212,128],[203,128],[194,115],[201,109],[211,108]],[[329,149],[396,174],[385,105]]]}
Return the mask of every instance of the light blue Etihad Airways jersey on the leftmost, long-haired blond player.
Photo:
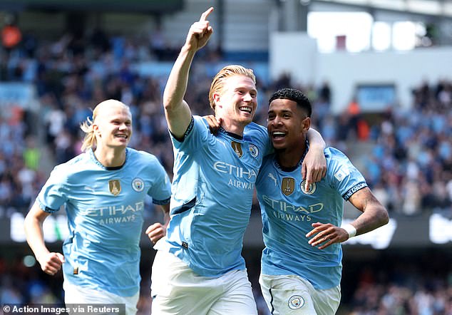
{"label": "light blue Etihad Airways jersey on the leftmost, long-haired blond player", "polygon": [[167,173],[154,155],[126,149],[121,167],[104,167],[92,150],[56,166],[37,197],[46,212],[66,206],[65,281],[119,296],[140,289],[145,196],[170,201]]}

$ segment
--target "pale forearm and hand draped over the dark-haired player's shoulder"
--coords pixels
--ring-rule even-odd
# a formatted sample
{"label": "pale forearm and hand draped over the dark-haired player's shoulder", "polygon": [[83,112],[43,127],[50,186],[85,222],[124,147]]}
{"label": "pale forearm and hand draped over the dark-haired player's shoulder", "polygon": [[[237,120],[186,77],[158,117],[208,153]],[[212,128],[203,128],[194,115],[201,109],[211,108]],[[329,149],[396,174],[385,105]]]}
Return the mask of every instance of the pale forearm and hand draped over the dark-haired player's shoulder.
{"label": "pale forearm and hand draped over the dark-haired player's shoulder", "polygon": [[324,155],[325,141],[317,130],[307,131],[309,150],[302,164],[302,176],[306,180],[306,190],[313,182],[319,182],[327,174],[327,159]]}

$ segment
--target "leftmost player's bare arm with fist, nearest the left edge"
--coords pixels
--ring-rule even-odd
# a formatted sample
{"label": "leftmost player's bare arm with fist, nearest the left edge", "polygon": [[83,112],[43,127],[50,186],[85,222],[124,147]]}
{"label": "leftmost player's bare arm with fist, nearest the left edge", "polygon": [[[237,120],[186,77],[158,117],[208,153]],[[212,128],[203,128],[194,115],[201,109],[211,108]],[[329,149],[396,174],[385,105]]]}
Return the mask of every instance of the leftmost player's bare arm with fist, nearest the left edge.
{"label": "leftmost player's bare arm with fist, nearest the left edge", "polygon": [[50,252],[44,243],[43,222],[50,214],[41,210],[35,202],[28,215],[25,217],[24,227],[26,242],[29,243],[36,260],[41,264],[41,269],[46,274],[56,274],[61,269],[64,256],[58,252]]}

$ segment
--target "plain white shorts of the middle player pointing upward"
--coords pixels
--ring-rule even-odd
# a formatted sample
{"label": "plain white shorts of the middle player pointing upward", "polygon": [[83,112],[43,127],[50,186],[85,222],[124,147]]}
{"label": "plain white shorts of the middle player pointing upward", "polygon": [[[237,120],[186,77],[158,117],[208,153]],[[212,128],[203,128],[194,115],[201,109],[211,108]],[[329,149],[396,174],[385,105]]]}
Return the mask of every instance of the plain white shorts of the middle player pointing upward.
{"label": "plain white shorts of the middle player pointing upward", "polygon": [[257,315],[246,270],[201,277],[175,255],[159,250],[151,278],[153,315]]}

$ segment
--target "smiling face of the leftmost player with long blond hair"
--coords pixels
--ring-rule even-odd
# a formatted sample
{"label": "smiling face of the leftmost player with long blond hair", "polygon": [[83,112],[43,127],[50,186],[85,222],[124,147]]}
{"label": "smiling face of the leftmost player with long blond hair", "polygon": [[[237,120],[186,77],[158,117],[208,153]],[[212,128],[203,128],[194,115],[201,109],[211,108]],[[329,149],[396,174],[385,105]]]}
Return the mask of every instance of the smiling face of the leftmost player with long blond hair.
{"label": "smiling face of the leftmost player with long blond hair", "polygon": [[118,100],[107,100],[98,106],[93,122],[98,148],[125,149],[132,135],[130,110]]}

